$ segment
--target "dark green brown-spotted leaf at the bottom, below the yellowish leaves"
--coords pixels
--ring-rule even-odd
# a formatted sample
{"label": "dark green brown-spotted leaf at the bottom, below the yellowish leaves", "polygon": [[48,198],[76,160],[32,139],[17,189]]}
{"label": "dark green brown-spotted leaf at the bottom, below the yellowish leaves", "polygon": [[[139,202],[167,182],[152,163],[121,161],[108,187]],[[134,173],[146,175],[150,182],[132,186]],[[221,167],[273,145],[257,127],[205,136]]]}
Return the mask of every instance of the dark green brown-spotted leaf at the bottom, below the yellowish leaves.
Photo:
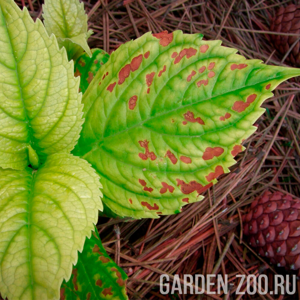
{"label": "dark green brown-spotted leaf at the bottom, below the yellowish leaves", "polygon": [[86,238],[71,278],[61,285],[61,299],[128,299],[126,273],[108,256],[95,228]]}

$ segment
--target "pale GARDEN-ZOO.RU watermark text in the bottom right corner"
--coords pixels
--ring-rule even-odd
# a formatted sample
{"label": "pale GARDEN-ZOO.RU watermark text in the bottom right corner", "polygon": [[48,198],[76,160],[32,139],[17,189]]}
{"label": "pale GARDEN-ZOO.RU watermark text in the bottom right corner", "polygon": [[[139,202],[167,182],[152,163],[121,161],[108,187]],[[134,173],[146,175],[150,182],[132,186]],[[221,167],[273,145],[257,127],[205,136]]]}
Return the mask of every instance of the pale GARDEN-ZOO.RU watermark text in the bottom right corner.
{"label": "pale GARDEN-ZOO.RU watermark text in the bottom right corner", "polygon": [[[236,295],[244,295],[244,283],[247,284],[247,294],[254,295],[256,292],[260,295],[270,293],[270,295],[293,295],[296,291],[296,275],[283,275],[274,276],[274,290],[268,291],[268,277],[267,275],[261,274],[256,277],[254,274],[246,275],[235,275],[239,279],[238,286],[235,290]],[[215,280],[214,277],[217,277]],[[290,278],[291,277],[291,278]],[[193,280],[195,279],[195,282]],[[284,282],[285,279],[285,282]],[[216,281],[216,282],[213,282]],[[194,286],[193,286],[194,283]],[[174,294],[220,294],[221,289],[224,294],[228,293],[228,287],[233,286],[234,283],[228,284],[228,275],[208,274],[206,276],[202,274],[196,274],[194,277],[190,274],[183,275],[183,283],[181,284],[179,275],[174,275],[173,283],[170,282],[170,277],[167,274],[162,274],[160,277],[160,292],[163,295],[168,293]],[[182,289],[183,286],[183,289]],[[217,289],[215,288],[217,287]]]}

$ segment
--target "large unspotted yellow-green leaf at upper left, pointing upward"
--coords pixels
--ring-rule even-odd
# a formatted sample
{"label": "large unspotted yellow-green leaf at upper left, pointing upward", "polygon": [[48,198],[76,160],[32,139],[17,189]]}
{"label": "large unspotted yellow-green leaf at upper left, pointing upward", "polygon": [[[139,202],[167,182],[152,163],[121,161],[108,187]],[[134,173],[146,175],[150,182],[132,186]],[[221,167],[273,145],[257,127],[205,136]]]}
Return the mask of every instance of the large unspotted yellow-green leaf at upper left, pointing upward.
{"label": "large unspotted yellow-green leaf at upper left, pointing upward", "polygon": [[83,122],[79,78],[55,37],[12,0],[0,1],[0,36],[0,166],[22,170],[31,148],[41,162],[74,148]]}

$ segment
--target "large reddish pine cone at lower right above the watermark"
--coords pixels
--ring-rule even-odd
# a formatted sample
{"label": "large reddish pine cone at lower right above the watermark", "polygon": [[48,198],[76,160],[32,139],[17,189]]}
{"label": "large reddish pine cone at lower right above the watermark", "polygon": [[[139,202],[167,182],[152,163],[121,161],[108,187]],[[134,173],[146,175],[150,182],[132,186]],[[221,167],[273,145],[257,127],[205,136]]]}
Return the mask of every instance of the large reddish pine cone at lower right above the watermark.
{"label": "large reddish pine cone at lower right above the watermark", "polygon": [[[300,268],[300,201],[266,191],[243,216],[244,235],[260,256],[286,269]],[[299,270],[300,271],[300,270]]]}

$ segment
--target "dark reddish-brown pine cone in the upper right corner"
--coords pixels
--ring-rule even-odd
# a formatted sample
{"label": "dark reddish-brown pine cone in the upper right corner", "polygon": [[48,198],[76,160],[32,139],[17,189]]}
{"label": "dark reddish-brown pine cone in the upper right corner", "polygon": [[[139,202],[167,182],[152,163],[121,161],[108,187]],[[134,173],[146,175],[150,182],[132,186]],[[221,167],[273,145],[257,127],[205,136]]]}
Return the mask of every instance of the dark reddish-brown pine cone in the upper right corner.
{"label": "dark reddish-brown pine cone in the upper right corner", "polygon": [[[290,4],[286,7],[280,7],[276,16],[271,20],[271,31],[284,33],[300,33],[300,5]],[[289,50],[290,46],[298,39],[297,36],[271,35],[275,49],[283,56]],[[300,41],[293,47],[289,56],[286,58],[292,64],[300,65]]]}

